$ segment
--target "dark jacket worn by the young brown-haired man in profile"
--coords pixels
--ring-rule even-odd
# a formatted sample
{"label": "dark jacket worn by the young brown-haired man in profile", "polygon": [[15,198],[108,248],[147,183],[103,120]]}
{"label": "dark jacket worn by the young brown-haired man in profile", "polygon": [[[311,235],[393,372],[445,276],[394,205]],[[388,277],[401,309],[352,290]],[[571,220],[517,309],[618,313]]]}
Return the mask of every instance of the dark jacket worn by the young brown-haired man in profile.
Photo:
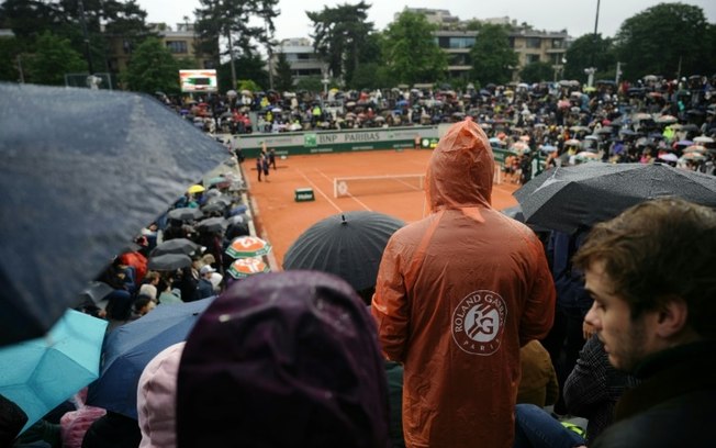
{"label": "dark jacket worn by the young brown-haired man in profile", "polygon": [[644,381],[617,402],[615,423],[591,448],[707,447],[716,427],[716,343],[664,350],[639,366]]}

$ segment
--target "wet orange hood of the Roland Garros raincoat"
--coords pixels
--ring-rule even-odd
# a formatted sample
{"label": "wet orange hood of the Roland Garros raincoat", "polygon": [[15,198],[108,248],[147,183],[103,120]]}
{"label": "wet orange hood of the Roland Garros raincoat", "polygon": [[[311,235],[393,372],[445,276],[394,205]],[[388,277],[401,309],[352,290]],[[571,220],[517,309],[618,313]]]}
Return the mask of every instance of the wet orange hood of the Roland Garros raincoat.
{"label": "wet orange hood of the Roland Garros raincoat", "polygon": [[440,137],[427,168],[430,211],[490,206],[494,160],[484,131],[472,120],[454,124]]}

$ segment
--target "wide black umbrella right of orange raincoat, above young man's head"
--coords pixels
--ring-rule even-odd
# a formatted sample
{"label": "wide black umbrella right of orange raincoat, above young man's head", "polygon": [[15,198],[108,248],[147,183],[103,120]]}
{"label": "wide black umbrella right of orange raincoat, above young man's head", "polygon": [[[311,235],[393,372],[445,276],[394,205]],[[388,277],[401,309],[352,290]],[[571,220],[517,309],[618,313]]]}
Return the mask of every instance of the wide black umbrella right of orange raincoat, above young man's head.
{"label": "wide black umbrella right of orange raincoat, above young man's head", "polygon": [[572,233],[659,197],[716,206],[716,177],[661,164],[583,164],[545,171],[514,195],[528,224]]}

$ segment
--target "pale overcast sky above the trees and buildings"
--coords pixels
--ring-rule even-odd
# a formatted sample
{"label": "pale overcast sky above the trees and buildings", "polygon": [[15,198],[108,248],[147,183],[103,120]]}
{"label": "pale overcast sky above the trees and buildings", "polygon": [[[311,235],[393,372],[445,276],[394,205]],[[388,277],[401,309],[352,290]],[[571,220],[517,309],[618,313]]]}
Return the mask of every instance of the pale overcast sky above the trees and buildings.
{"label": "pale overcast sky above the trees and buildings", "polygon": [[[165,22],[171,26],[183,22],[188,15],[193,20],[193,12],[199,8],[199,0],[137,0],[147,11],[147,22]],[[594,31],[597,0],[367,0],[372,4],[369,20],[377,30],[383,30],[392,22],[393,15],[405,7],[444,9],[460,20],[490,19],[510,16],[517,23],[527,22],[537,30],[559,31],[567,29],[572,37],[579,37]],[[716,23],[715,0],[681,0],[682,3],[701,7],[706,20]],[[311,21],[305,11],[321,11],[324,5],[356,4],[356,0],[280,0],[281,15],[276,19],[276,37],[309,37],[312,32]],[[597,32],[603,36],[614,36],[624,19],[656,5],[656,0],[601,0]]]}

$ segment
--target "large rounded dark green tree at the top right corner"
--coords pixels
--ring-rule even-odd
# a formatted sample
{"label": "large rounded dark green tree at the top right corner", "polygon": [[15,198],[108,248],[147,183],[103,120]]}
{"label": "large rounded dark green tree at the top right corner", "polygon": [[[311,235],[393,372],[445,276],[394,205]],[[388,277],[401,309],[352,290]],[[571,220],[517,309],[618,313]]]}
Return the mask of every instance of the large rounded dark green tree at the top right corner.
{"label": "large rounded dark green tree at the top right corner", "polygon": [[625,20],[616,34],[624,74],[676,76],[716,69],[711,25],[703,9],[684,3],[661,3]]}

